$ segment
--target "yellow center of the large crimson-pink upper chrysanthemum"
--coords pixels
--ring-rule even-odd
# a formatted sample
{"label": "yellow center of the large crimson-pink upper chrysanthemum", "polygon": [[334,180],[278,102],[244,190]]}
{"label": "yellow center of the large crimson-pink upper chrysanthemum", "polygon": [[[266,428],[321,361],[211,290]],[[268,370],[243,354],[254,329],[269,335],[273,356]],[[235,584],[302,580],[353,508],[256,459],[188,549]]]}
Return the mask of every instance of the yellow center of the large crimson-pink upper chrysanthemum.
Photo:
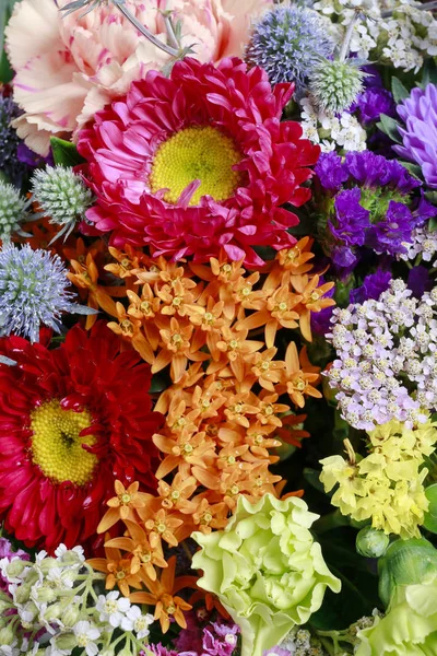
{"label": "yellow center of the large crimson-pink upper chrysanthemum", "polygon": [[180,130],[156,151],[149,184],[153,194],[168,189],[164,200],[176,203],[184,189],[193,180],[200,186],[190,204],[199,204],[202,196],[222,201],[238,187],[240,174],[233,166],[241,160],[229,137],[211,126]]}

